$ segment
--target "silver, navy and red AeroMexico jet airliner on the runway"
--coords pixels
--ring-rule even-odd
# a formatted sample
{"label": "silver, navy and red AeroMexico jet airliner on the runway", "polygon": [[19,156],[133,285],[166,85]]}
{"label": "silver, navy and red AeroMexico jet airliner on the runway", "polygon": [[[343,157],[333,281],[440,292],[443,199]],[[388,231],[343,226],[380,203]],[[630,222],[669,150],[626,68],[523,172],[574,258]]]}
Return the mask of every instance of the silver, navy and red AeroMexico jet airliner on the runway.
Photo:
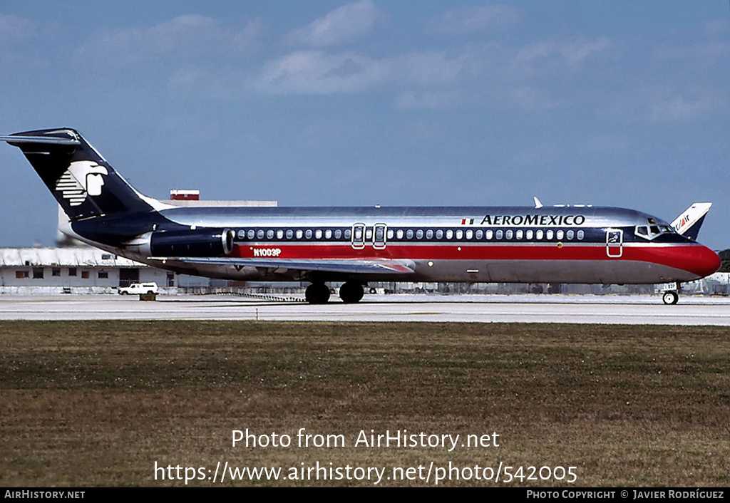
{"label": "silver, navy and red AeroMexico jet airliner on the runway", "polygon": [[[720,258],[664,220],[592,205],[546,207],[175,207],[136,191],[72,128],[0,136],[61,205],[61,229],[181,274],[311,284],[310,304],[359,302],[385,282],[672,283]],[[697,226],[694,229],[698,229]]]}

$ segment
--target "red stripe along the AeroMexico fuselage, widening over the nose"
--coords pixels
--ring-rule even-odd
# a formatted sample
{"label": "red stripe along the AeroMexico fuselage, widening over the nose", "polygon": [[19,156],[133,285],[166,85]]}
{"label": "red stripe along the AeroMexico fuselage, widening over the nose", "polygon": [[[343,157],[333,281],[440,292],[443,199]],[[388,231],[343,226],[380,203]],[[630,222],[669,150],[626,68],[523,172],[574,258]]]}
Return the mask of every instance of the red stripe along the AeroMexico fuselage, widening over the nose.
{"label": "red stripe along the AeroMexico fuselage, widening over the nose", "polygon": [[[258,254],[254,250],[258,251]],[[274,251],[265,251],[274,250]],[[611,253],[618,254],[618,247]],[[368,245],[361,250],[350,243],[333,244],[286,244],[236,245],[231,256],[242,258],[300,258],[300,259],[372,259],[392,258],[399,260],[473,260],[473,261],[636,261],[661,264],[682,269],[699,277],[712,274],[720,267],[718,255],[703,245],[686,243],[681,245],[623,245],[621,257],[610,257],[605,244],[572,245],[557,243],[550,245],[496,245],[496,244],[449,244],[411,245],[388,244],[383,250]]]}

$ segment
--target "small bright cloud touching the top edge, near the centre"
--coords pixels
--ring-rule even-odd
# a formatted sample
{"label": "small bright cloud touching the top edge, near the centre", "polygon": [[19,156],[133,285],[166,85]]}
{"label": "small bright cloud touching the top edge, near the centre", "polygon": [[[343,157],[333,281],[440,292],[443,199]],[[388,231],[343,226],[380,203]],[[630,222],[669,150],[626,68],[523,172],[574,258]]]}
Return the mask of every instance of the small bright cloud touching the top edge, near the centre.
{"label": "small bright cloud touching the top edge, near the centre", "polygon": [[356,1],[334,9],[309,26],[293,31],[288,39],[312,47],[342,44],[370,31],[379,15],[372,1]]}

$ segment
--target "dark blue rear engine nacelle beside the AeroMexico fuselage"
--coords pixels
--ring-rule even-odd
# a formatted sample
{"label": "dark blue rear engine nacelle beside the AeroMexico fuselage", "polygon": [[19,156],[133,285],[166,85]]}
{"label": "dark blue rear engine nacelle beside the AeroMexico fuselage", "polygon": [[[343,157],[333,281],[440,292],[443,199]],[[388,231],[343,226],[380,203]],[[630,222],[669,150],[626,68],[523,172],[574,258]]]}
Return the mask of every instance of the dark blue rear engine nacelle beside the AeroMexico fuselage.
{"label": "dark blue rear engine nacelle beside the AeroMexico fuselage", "polygon": [[233,251],[231,229],[155,231],[150,235],[153,257],[224,257]]}

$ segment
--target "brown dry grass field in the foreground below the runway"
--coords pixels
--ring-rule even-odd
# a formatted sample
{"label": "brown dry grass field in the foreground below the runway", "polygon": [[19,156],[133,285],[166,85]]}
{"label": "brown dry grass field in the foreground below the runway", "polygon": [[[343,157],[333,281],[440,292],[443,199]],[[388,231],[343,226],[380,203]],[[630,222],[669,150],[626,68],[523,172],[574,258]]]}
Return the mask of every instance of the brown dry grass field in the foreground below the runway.
{"label": "brown dry grass field in the foreground below the runway", "polygon": [[[729,375],[730,330],[715,327],[3,322],[0,485],[185,485],[167,466],[221,485],[208,477],[227,461],[342,477],[223,485],[374,485],[353,478],[369,467],[378,485],[434,485],[449,463],[459,480],[439,485],[493,485],[476,474],[502,463],[499,485],[727,486]],[[345,445],[299,447],[302,428]],[[246,429],[291,446],[234,447]],[[450,452],[354,445],[371,430],[460,437]],[[499,447],[461,447],[467,434]],[[391,477],[418,466],[428,483]],[[528,480],[529,466],[577,480]]]}

